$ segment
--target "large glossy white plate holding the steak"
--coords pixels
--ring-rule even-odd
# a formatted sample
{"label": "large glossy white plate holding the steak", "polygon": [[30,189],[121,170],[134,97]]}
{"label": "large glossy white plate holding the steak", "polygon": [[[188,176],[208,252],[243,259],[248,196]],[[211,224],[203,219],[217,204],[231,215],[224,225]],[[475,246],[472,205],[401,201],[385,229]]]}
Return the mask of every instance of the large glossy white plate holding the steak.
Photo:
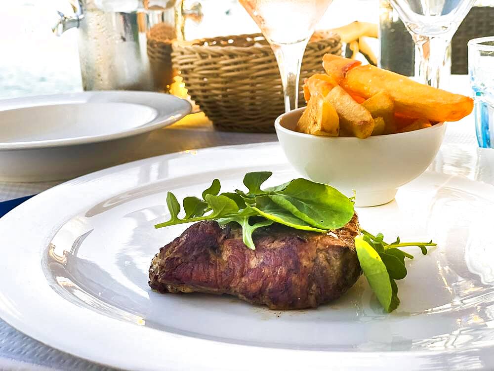
{"label": "large glossy white plate holding the steak", "polygon": [[391,241],[433,239],[386,314],[361,278],[318,309],[271,311],[230,296],[148,287],[166,191],[200,195],[297,176],[278,143],[186,151],[82,176],[0,219],[0,316],[52,347],[130,370],[472,370],[494,368],[494,156],[443,146],[396,200],[359,208]]}

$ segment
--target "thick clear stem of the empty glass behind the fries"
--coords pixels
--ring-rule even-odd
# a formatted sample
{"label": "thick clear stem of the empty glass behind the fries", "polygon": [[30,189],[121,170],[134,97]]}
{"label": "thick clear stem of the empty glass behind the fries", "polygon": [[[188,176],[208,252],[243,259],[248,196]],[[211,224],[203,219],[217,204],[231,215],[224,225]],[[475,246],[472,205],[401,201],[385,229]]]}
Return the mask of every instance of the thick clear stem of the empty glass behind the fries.
{"label": "thick clear stem of the empty glass behind the fries", "polygon": [[447,49],[451,37],[423,36],[412,34],[415,41],[415,77],[420,82],[439,87],[441,75],[445,73]]}

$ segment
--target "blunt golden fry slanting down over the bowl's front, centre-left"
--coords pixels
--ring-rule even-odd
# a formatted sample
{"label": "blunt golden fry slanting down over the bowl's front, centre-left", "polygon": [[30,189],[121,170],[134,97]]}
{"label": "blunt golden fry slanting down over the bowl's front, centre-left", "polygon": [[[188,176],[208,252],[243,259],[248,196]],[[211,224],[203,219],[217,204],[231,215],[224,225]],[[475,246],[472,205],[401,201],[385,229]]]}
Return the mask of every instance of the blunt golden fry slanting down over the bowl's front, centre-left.
{"label": "blunt golden fry slanting down over the bowl's front, centre-left", "polygon": [[367,138],[374,128],[371,113],[358,104],[343,88],[335,86],[326,96],[339,116],[339,124],[358,138]]}

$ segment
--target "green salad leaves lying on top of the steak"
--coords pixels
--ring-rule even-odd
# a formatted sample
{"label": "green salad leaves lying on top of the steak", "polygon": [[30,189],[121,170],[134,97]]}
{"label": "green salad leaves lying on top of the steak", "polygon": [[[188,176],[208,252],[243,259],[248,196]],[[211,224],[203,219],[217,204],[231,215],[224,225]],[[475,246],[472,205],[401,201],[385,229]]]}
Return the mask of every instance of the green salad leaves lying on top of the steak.
{"label": "green salad leaves lying on top of the steak", "polygon": [[[254,249],[252,233],[261,227],[279,223],[291,228],[327,232],[346,225],[354,214],[353,203],[336,189],[306,179],[294,179],[278,186],[261,189],[272,175],[270,171],[247,173],[242,190],[223,192],[221,183],[214,179],[202,199],[189,196],[183,200],[185,216],[179,218],[180,204],[168,192],[170,220],[155,225],[170,225],[216,220],[221,224],[236,222],[242,226],[244,243]],[[252,217],[257,220],[251,223]]]}

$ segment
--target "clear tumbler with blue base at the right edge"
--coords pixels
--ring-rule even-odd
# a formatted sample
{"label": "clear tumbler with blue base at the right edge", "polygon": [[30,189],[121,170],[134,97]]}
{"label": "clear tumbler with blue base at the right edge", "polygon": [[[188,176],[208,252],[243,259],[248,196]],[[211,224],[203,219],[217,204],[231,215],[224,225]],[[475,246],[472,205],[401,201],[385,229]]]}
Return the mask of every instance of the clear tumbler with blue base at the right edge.
{"label": "clear tumbler with blue base at the right edge", "polygon": [[468,41],[468,74],[479,146],[494,148],[494,37]]}

